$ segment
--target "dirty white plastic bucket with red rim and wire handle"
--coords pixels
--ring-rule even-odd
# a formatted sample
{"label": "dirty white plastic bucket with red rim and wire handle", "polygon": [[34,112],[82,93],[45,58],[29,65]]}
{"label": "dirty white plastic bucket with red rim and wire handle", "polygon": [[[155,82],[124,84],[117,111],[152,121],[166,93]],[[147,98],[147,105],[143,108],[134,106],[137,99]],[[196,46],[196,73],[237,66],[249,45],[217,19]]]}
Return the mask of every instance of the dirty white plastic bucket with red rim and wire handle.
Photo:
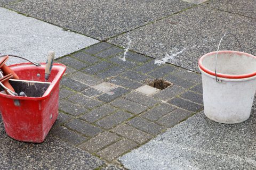
{"label": "dirty white plastic bucket with red rim and wire handle", "polygon": [[[204,113],[215,122],[239,123],[249,118],[256,91],[256,57],[236,51],[219,51],[202,56]],[[217,82],[218,79],[218,82]]]}

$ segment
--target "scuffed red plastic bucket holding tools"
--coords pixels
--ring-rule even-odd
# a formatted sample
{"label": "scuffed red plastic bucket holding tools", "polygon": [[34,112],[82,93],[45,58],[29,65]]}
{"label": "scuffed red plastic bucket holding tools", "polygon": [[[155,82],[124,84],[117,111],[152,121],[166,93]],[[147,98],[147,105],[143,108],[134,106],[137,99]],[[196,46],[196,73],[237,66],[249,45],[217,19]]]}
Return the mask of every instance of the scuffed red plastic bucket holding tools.
{"label": "scuffed red plastic bucket holding tools", "polygon": [[[45,63],[10,65],[20,80],[45,82]],[[53,64],[50,86],[42,97],[11,96],[0,93],[0,111],[7,135],[22,142],[41,143],[58,117],[59,83],[66,66]]]}

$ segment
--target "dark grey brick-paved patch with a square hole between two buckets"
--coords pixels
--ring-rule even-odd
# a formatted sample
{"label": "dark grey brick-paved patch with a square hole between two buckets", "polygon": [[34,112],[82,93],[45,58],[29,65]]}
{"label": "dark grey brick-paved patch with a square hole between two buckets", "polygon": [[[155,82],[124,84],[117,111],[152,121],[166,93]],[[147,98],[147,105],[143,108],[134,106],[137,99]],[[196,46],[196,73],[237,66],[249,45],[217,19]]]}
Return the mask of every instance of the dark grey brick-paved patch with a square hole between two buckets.
{"label": "dark grey brick-paved patch with a square hole between two buckets", "polygon": [[[201,75],[98,43],[57,60],[59,117],[51,134],[113,162],[203,108]],[[163,79],[163,90],[148,82]]]}

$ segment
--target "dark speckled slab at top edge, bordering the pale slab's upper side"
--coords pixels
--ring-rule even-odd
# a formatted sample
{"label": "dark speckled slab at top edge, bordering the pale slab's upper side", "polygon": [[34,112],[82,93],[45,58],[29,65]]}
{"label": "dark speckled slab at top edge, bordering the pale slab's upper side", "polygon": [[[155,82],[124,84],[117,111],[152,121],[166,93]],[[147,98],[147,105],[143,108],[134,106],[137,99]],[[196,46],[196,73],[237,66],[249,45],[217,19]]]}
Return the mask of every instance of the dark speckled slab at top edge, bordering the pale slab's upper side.
{"label": "dark speckled slab at top edge, bordering the pale slab's upper side", "polygon": [[7,7],[60,27],[104,40],[192,5],[179,0],[27,0]]}

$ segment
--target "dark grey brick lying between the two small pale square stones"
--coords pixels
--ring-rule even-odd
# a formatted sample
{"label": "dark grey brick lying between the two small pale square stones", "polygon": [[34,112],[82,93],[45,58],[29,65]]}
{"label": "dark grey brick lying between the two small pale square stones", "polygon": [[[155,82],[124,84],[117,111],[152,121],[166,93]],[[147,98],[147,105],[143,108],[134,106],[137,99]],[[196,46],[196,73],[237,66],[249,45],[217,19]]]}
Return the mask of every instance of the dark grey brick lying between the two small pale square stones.
{"label": "dark grey brick lying between the two small pale square stones", "polygon": [[119,76],[110,79],[110,82],[129,89],[137,89],[138,87],[142,86],[141,83],[132,81],[130,79],[125,79]]}

